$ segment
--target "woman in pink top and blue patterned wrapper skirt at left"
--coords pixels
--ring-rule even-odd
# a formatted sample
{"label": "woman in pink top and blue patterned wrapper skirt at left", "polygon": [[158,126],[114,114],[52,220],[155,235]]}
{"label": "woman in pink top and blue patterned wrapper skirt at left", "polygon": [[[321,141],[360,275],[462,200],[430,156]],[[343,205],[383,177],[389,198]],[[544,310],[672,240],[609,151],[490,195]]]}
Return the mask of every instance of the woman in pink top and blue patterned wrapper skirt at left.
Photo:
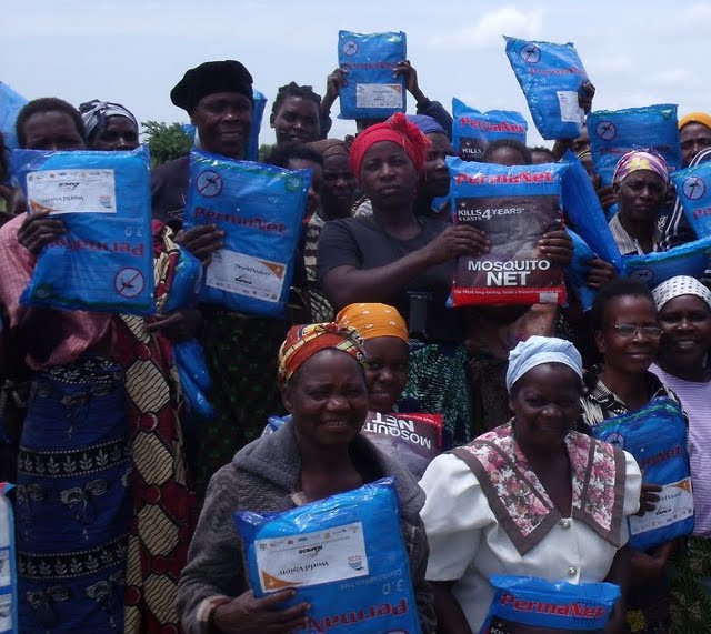
{"label": "woman in pink top and blue patterned wrapper skirt at left", "polygon": [[[58,99],[28,103],[17,129],[21,148],[86,149],[81,115]],[[29,368],[32,380],[17,479],[19,617],[29,633],[118,632],[131,522],[124,379],[110,315],[20,305],[36,253],[64,231],[46,215],[0,228],[0,303],[18,352],[6,362],[12,379]]]}

